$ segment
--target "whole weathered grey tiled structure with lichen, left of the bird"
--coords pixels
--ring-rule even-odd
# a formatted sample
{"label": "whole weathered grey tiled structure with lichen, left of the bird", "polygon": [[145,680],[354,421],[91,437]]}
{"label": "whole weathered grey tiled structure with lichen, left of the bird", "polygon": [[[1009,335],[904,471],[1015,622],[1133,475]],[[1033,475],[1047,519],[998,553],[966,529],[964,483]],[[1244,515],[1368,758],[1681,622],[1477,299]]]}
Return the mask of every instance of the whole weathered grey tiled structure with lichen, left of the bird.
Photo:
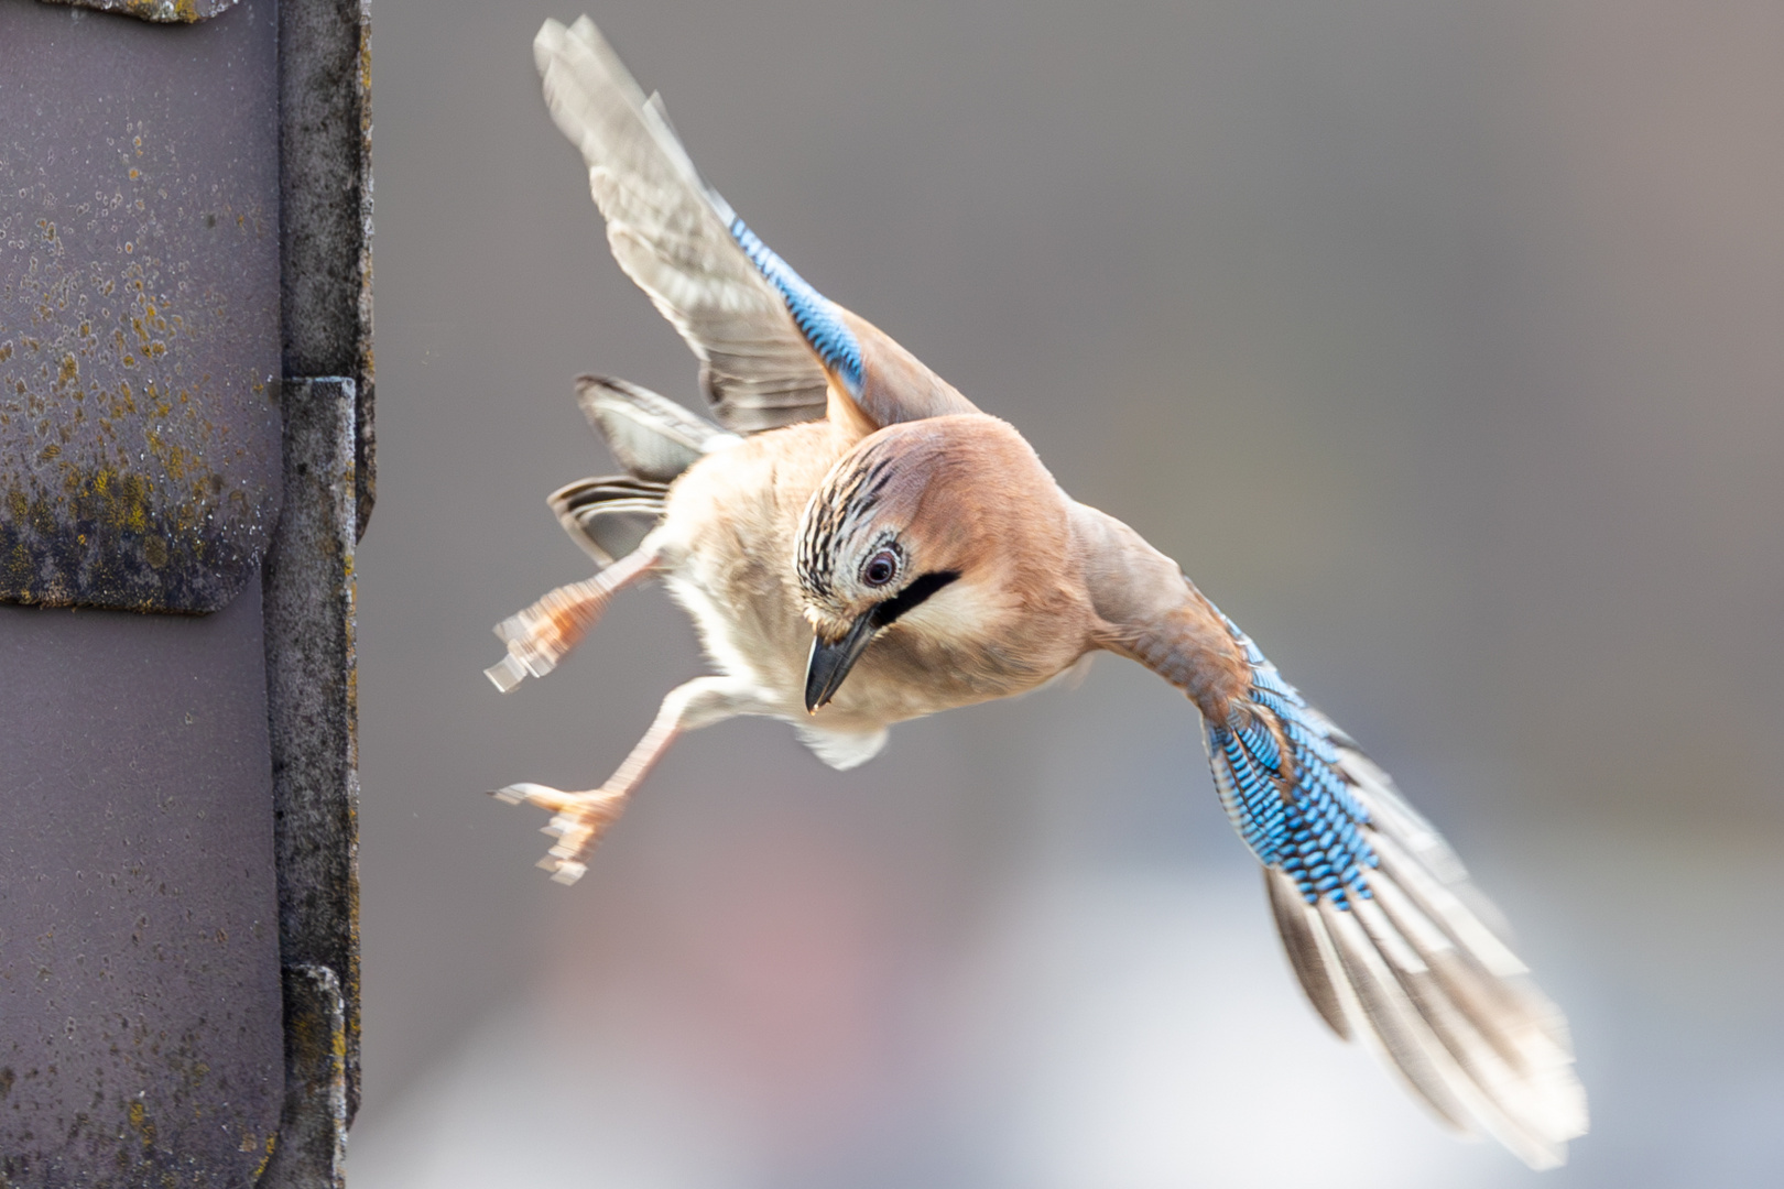
{"label": "whole weathered grey tiled structure with lichen, left of the bird", "polygon": [[341,1184],[366,30],[0,7],[0,1185]]}

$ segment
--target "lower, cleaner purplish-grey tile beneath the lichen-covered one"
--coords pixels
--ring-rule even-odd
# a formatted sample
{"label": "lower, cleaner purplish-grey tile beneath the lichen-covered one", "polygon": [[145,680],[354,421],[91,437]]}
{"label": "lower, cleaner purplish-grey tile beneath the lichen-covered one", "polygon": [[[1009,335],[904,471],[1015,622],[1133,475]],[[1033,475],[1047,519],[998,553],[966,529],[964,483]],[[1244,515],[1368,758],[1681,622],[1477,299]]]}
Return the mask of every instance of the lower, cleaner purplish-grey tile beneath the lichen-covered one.
{"label": "lower, cleaner purplish-grey tile beneath the lichen-covered one", "polygon": [[0,604],[0,1177],[248,1185],[278,1127],[260,590]]}

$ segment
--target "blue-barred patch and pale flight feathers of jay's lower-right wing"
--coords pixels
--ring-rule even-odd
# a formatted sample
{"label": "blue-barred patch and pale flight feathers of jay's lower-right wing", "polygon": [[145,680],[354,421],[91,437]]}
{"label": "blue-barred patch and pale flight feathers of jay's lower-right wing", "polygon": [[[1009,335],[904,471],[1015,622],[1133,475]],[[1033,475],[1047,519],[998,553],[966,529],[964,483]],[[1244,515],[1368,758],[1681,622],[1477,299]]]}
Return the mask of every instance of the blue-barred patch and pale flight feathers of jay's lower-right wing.
{"label": "blue-barred patch and pale flight feathers of jay's lower-right wing", "polygon": [[1561,1013],[1436,829],[1233,635],[1252,683],[1206,726],[1210,765],[1313,1009],[1458,1132],[1493,1136],[1531,1168],[1563,1164],[1586,1093]]}

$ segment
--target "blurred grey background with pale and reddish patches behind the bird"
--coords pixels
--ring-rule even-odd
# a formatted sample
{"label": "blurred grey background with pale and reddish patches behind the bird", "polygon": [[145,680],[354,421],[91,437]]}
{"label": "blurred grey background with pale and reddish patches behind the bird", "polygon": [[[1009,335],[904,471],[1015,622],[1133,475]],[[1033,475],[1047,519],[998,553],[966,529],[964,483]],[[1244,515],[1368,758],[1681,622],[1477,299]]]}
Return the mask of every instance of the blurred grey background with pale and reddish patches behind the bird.
{"label": "blurred grey background with pale and reddish patches behind the bird", "polygon": [[[822,292],[1176,556],[1452,838],[1568,1009],[1556,1185],[1784,1175],[1784,7],[591,9]],[[694,398],[530,43],[376,0],[357,1189],[1532,1184],[1290,982],[1190,706],[1074,692],[681,742],[587,879],[483,790],[598,784],[699,672],[660,590],[500,697],[587,565],[580,371]]]}

